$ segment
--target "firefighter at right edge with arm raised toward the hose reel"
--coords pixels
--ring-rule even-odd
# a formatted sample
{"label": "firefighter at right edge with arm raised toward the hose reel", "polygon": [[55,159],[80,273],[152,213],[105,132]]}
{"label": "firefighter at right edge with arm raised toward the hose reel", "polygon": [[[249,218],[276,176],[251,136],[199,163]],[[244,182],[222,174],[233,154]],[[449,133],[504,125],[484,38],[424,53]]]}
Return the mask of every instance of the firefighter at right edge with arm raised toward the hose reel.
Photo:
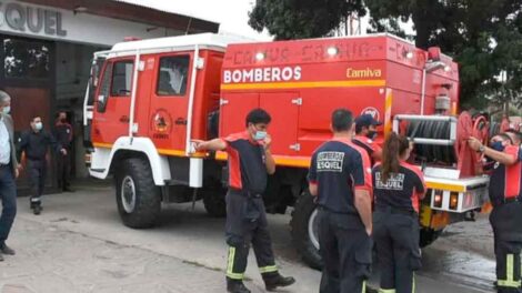
{"label": "firefighter at right edge with arm raised toward the hose reel", "polygon": [[496,256],[496,290],[499,293],[521,292],[522,250],[522,162],[520,146],[505,134],[495,135],[490,146],[470,138],[470,146],[494,160],[490,178],[490,201],[493,211],[490,223],[494,234]]}

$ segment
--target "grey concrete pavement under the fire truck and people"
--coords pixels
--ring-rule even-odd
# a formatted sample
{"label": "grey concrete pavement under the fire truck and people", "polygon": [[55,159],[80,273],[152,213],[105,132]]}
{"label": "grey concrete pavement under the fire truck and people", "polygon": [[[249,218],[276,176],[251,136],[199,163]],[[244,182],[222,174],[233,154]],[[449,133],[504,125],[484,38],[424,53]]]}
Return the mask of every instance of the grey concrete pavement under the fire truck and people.
{"label": "grey concrete pavement under the fire truck and people", "polygon": [[[121,224],[109,185],[46,196],[40,216],[30,213],[27,201],[19,199],[9,241],[18,254],[0,263],[1,293],[224,292],[224,222],[209,218],[201,203],[195,211],[191,204],[164,206],[159,228],[131,230]],[[269,219],[278,264],[298,279],[282,292],[318,292],[320,272],[307,267],[292,247],[289,219]],[[418,292],[491,292],[490,234],[484,219],[452,226],[424,250]],[[253,257],[247,275],[247,285],[263,292]]]}

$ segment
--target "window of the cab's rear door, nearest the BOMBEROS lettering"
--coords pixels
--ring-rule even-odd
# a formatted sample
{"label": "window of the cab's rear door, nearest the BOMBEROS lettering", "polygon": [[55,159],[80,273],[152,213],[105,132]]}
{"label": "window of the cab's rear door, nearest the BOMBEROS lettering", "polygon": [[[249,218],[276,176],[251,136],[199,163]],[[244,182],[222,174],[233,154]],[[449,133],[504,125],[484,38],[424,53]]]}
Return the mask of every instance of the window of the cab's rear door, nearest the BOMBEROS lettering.
{"label": "window of the cab's rear door, nearest the BOMBEROS lettering", "polygon": [[184,95],[189,72],[189,55],[164,57],[160,59],[158,72],[158,95]]}

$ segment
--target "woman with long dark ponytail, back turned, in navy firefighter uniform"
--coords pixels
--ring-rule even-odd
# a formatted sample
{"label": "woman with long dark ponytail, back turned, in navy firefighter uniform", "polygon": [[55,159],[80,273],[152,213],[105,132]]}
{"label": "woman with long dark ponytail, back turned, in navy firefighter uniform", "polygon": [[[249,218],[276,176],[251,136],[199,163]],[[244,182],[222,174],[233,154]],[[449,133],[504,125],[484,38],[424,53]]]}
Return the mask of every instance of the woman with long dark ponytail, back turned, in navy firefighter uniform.
{"label": "woman with long dark ponytail, back turned, in navy firefighter uniform", "polygon": [[391,133],[384,142],[382,163],[372,170],[373,240],[382,293],[414,292],[414,271],[421,267],[419,200],[426,188],[421,170],[405,162],[412,149],[408,138]]}

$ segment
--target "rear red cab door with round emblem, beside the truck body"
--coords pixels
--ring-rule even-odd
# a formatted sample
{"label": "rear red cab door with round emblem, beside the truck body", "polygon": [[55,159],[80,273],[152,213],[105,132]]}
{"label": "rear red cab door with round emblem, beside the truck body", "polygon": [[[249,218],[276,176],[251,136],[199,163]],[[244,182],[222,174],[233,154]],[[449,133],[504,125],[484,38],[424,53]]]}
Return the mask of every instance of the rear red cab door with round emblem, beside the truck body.
{"label": "rear red cab door with round emblem, beside the truck body", "polygon": [[165,53],[157,57],[151,87],[150,131],[155,146],[183,155],[185,150],[192,54]]}

